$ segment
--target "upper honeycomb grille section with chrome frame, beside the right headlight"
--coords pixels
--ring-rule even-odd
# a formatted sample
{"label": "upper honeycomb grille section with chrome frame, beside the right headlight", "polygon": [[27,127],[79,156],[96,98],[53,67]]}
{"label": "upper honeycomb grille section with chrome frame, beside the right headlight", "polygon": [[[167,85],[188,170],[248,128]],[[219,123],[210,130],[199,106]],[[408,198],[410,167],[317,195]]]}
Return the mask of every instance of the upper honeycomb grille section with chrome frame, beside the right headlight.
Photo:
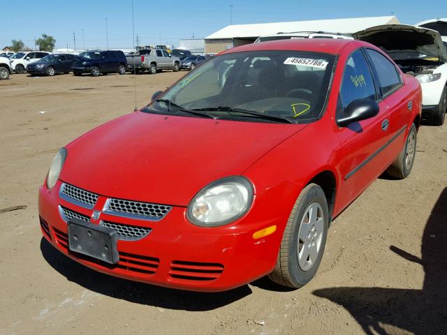
{"label": "upper honeycomb grille section with chrome frame, beside the right headlight", "polygon": [[150,204],[122,199],[110,199],[105,205],[105,213],[125,216],[130,218],[142,218],[147,220],[161,220],[172,207],[166,204]]}

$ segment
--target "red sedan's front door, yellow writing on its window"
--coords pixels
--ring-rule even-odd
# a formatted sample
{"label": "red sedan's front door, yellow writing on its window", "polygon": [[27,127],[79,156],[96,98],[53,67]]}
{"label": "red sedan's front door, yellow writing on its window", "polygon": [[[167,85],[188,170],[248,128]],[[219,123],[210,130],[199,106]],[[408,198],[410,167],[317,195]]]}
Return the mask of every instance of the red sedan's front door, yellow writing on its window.
{"label": "red sedan's front door, yellow writing on its window", "polygon": [[390,112],[379,92],[361,49],[351,54],[345,64],[342,85],[339,89],[336,119],[346,116],[346,107],[358,99],[377,101],[379,114],[370,119],[339,127],[340,140],[339,172],[342,186],[337,197],[337,211],[346,207],[374,181],[386,168],[386,143],[390,138]]}

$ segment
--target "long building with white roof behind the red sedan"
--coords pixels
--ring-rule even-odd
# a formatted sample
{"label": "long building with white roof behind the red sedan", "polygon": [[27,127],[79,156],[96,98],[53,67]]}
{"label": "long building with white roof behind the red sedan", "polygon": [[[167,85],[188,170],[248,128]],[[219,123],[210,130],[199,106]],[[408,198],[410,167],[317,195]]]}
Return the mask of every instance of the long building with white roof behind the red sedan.
{"label": "long building with white roof behind the red sedan", "polygon": [[293,31],[326,31],[351,34],[380,24],[400,24],[395,16],[356,17],[351,19],[309,20],[255,24],[231,24],[205,37],[205,53],[252,43],[256,38]]}

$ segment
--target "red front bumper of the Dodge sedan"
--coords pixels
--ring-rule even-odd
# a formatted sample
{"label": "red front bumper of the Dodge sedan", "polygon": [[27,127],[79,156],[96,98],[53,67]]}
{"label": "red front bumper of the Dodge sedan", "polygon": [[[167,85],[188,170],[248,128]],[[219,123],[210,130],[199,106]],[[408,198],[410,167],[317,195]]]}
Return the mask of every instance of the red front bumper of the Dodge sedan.
{"label": "red front bumper of the Dodge sedan", "polygon": [[[107,200],[103,196],[98,198],[93,209],[68,202],[59,197],[60,186],[61,181],[58,181],[50,191],[46,186],[39,190],[41,230],[47,241],[68,257],[96,271],[170,288],[217,292],[265,276],[274,268],[287,221],[287,216],[278,214],[284,211],[272,211],[267,215],[265,208],[269,204],[263,201],[257,207],[254,204],[237,225],[219,228],[200,228],[189,223],[185,207],[173,207],[161,221],[142,221],[103,212]],[[280,190],[270,190],[277,191]],[[152,231],[136,241],[119,239],[119,262],[108,265],[69,251],[67,224],[59,214],[59,205],[90,217],[91,223],[113,221],[151,228]],[[95,209],[101,211],[97,220],[92,218]],[[277,225],[277,231],[253,239],[254,232],[270,225]]]}

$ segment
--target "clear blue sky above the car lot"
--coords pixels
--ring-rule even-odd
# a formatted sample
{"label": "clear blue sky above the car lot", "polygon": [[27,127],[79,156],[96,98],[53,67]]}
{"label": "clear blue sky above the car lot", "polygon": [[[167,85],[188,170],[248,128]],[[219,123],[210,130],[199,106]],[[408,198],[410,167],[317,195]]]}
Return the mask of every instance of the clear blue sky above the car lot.
{"label": "clear blue sky above the car lot", "polygon": [[[421,3],[415,0],[133,0],[133,17],[135,38],[138,34],[140,45],[178,45],[179,39],[204,38],[226,27],[230,20],[233,24],[244,24],[396,15],[402,23],[415,24],[447,17],[447,1],[432,0],[424,6]],[[135,42],[132,0],[21,0],[20,7],[22,10],[18,12],[13,10],[2,15],[1,48],[10,45],[13,39],[34,47],[34,38],[41,34],[53,36],[56,48],[73,48],[75,43],[78,49],[105,48],[107,38],[110,48],[131,48]]]}

